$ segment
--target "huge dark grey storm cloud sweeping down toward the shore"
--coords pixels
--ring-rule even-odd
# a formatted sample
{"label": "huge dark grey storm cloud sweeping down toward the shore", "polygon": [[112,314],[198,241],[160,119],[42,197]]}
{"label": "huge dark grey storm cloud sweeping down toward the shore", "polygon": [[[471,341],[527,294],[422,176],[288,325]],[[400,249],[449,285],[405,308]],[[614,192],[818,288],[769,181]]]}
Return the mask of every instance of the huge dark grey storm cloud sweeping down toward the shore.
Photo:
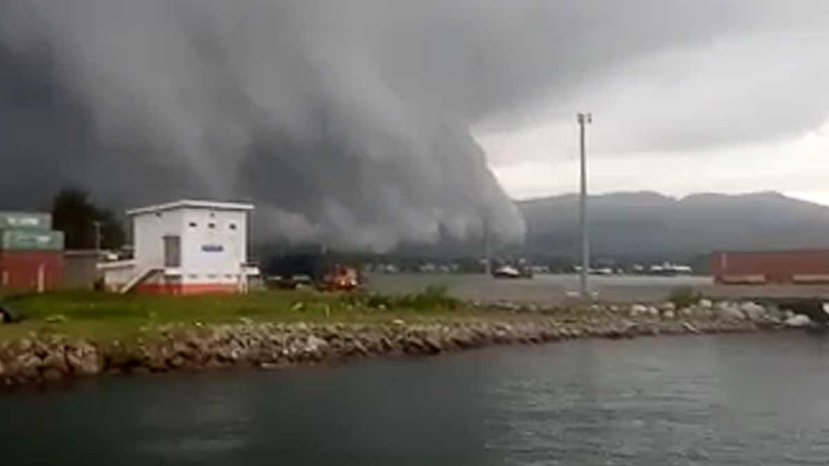
{"label": "huge dark grey storm cloud sweeping down toward the shore", "polygon": [[347,245],[466,235],[484,215],[515,239],[471,124],[778,24],[768,8],[0,0],[0,204],[74,183],[119,206],[250,197],[275,234]]}

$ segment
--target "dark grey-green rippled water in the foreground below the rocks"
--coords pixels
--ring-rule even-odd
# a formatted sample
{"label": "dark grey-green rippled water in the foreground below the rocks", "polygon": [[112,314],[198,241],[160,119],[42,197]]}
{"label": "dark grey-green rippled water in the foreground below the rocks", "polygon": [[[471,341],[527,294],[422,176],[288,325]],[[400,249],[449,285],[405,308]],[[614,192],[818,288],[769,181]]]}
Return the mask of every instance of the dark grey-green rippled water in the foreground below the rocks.
{"label": "dark grey-green rippled water in the foreground below the rocks", "polygon": [[827,464],[829,338],[642,338],[0,394],[2,464]]}

